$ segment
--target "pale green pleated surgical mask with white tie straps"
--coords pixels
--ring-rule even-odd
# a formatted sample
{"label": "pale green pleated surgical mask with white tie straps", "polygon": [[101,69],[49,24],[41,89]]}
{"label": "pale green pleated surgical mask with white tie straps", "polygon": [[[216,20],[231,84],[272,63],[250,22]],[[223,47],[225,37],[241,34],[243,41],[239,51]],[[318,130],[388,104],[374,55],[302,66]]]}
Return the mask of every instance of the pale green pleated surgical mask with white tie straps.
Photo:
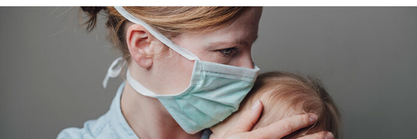
{"label": "pale green pleated surgical mask with white tie straps", "polygon": [[[195,61],[190,85],[176,95],[156,95],[133,79],[128,70],[126,73],[127,82],[134,90],[141,95],[154,97],[161,101],[161,104],[181,128],[191,134],[221,122],[238,110],[240,102],[251,90],[256,76],[258,76],[259,68],[256,65],[254,65],[254,69],[249,69],[199,60],[193,53],[179,47],[145,22],[127,13],[122,7],[115,8],[129,21],[144,26],[149,33],[170,49],[188,60]],[[113,70],[117,61],[120,60],[122,58],[115,60],[108,70],[103,82],[104,86],[107,84],[108,77],[115,77],[120,73],[121,68]]]}

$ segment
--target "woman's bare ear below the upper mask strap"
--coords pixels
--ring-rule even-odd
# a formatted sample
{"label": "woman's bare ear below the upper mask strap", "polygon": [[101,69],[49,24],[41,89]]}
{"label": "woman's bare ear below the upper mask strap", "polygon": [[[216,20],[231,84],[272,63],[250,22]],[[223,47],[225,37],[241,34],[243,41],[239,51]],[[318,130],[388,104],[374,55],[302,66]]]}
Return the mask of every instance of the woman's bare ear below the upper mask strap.
{"label": "woman's bare ear below the upper mask strap", "polygon": [[142,68],[149,68],[153,64],[152,41],[154,35],[140,24],[131,24],[126,31],[126,44],[131,58]]}

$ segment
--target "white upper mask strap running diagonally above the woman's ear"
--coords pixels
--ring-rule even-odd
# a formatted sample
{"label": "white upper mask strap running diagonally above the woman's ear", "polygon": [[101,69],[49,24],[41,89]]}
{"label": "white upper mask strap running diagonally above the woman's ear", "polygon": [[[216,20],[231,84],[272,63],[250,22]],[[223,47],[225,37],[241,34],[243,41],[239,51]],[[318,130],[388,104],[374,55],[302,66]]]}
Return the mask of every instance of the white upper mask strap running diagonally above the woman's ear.
{"label": "white upper mask strap running diagonally above the woman's ear", "polygon": [[124,10],[121,6],[115,6],[115,9],[117,12],[120,13],[124,18],[128,19],[130,22],[133,22],[135,24],[140,24],[143,27],[149,31],[152,35],[154,35],[155,38],[157,38],[159,41],[161,41],[163,44],[167,45],[167,47],[170,47],[172,50],[177,51],[178,54],[181,54],[181,56],[184,56],[188,60],[199,60],[197,56],[195,56],[193,53],[188,51],[187,49],[184,49],[183,47],[180,47],[179,45],[172,42],[170,39],[166,38],[165,35],[162,35],[158,31],[156,31],[155,28],[152,26],[149,26],[149,24],[143,22],[142,20],[136,18],[135,16],[131,15],[129,12]]}

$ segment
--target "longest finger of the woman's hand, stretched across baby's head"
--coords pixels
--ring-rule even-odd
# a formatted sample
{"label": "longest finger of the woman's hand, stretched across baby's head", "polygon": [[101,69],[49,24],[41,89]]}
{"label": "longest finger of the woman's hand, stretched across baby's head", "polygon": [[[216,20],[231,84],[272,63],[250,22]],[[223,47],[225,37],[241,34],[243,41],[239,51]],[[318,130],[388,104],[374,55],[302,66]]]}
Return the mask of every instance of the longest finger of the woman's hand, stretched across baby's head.
{"label": "longest finger of the woman's hand, stretched across baby's head", "polygon": [[253,138],[282,138],[298,129],[314,124],[316,121],[317,115],[313,113],[295,115],[251,131],[250,136],[253,136]]}

